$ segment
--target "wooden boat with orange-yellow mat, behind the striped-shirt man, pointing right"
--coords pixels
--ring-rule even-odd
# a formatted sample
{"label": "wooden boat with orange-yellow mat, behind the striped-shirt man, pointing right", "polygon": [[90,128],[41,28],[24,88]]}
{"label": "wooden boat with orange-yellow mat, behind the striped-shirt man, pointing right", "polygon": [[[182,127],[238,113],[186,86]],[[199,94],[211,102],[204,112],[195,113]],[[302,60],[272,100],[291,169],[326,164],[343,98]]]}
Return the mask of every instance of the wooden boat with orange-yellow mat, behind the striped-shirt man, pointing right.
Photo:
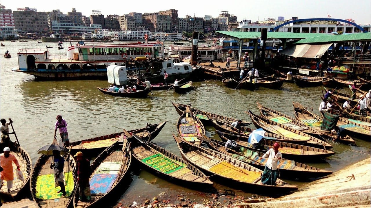
{"label": "wooden boat with orange-yellow mat, behind the striped-shirt man, pointing right", "polygon": [[[153,140],[158,133],[164,128],[166,121],[163,121],[158,124],[148,124],[144,128],[138,128],[134,130],[129,130],[129,133],[135,133],[142,137],[143,140],[151,141]],[[98,155],[98,153],[102,152],[107,147],[111,146],[116,142],[124,142],[126,138],[125,135],[122,135],[124,132],[118,132],[114,134],[108,134],[100,137],[94,137],[86,140],[80,140],[70,143],[71,152],[75,154],[78,151],[83,152],[84,155]],[[134,146],[132,142],[132,146]]]}

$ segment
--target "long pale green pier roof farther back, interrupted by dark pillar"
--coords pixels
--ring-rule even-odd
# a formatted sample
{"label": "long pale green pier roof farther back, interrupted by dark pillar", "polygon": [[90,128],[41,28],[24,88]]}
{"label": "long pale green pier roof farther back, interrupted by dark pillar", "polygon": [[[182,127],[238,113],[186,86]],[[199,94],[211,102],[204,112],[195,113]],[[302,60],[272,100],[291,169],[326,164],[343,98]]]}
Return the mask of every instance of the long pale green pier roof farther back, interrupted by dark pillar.
{"label": "long pale green pier roof farther back, interrupted by dark pillar", "polygon": [[[232,31],[214,31],[230,38],[236,39],[259,39],[260,32],[232,32]],[[268,39],[296,39],[296,38],[312,38],[318,36],[332,36],[329,33],[285,33],[285,32],[268,32]]]}

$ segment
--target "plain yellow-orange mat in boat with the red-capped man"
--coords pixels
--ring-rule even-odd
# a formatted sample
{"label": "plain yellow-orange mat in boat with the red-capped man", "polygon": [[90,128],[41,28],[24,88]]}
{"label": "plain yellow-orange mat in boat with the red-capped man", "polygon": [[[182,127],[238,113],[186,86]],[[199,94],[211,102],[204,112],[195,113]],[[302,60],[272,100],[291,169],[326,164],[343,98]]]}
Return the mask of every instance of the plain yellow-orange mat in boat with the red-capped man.
{"label": "plain yellow-orange mat in boat with the red-capped man", "polygon": [[221,161],[209,169],[211,172],[223,175],[234,180],[253,182],[260,177],[260,172],[248,171],[243,168],[236,168],[226,161]]}

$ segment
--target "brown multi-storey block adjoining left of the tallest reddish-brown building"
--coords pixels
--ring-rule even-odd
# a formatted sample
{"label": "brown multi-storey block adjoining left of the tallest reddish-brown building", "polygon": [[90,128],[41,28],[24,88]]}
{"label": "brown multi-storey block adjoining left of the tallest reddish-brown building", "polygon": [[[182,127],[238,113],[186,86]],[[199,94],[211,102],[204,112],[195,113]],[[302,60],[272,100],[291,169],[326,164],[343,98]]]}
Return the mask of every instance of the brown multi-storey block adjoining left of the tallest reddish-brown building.
{"label": "brown multi-storey block adjoining left of the tallest reddish-brown building", "polygon": [[144,13],[144,19],[150,20],[154,28],[150,28],[151,32],[170,32],[171,30],[171,16],[160,15],[160,13]]}

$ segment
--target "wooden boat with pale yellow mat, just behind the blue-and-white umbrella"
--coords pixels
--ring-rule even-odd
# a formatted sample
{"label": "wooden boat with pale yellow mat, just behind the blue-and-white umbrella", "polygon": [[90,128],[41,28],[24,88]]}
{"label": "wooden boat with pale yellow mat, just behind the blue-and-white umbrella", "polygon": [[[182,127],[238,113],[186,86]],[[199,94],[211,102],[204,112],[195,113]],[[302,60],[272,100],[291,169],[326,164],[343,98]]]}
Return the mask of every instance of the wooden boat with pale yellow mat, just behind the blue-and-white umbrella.
{"label": "wooden boat with pale yellow mat, just behind the blue-and-white umbrella", "polygon": [[309,141],[307,141],[305,145],[308,145],[311,147],[325,148],[325,149],[332,148],[332,145],[325,141],[319,140],[318,138],[312,137],[311,135],[308,135],[294,128],[285,126],[278,122],[269,120],[267,118],[263,118],[259,115],[255,115],[250,110],[248,112],[245,111],[245,113],[250,115],[251,121],[257,128],[263,128],[265,131],[269,131],[273,134],[280,134],[280,135],[291,137],[291,138],[298,138],[298,139],[305,139],[305,140],[309,138]]}

